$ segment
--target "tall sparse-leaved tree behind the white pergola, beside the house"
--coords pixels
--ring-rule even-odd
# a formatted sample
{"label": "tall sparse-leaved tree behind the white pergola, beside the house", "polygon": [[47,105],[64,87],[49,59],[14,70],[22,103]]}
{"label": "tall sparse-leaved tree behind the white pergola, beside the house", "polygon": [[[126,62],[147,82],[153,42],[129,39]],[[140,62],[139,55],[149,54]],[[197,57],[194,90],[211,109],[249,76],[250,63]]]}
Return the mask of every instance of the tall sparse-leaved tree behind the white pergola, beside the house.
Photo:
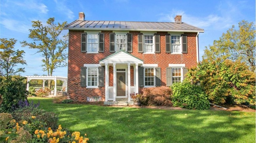
{"label": "tall sparse-leaved tree behind the white pergola, beside the house", "polygon": [[[47,74],[52,76],[56,68],[67,66],[68,34],[61,36],[67,22],[55,24],[54,18],[49,18],[46,23],[48,25],[44,26],[41,21],[32,21],[33,29],[29,30],[29,38],[34,42],[22,41],[21,44],[23,47],[29,46],[31,49],[37,49],[36,53],[44,57],[43,71],[47,71]],[[49,82],[50,86],[51,82]]]}

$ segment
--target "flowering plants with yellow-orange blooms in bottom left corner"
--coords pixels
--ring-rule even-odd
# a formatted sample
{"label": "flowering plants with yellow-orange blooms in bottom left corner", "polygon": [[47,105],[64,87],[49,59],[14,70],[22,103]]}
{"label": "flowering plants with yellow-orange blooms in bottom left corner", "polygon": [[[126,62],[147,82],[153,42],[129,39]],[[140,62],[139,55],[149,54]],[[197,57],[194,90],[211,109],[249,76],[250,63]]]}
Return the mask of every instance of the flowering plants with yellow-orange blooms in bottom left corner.
{"label": "flowering plants with yellow-orange blooms in bottom left corner", "polygon": [[[8,114],[8,113],[5,113]],[[9,120],[11,115],[6,115]],[[11,142],[11,143],[58,143],[58,142],[69,142],[69,143],[87,143],[89,138],[80,136],[80,132],[63,131],[61,125],[56,130],[52,130],[51,127],[47,128],[46,123],[39,122],[36,120],[36,116],[31,116],[31,121],[22,120],[16,122],[15,119],[8,121],[9,123],[5,126],[2,132],[0,132],[0,142]],[[1,118],[2,120],[2,118]]]}

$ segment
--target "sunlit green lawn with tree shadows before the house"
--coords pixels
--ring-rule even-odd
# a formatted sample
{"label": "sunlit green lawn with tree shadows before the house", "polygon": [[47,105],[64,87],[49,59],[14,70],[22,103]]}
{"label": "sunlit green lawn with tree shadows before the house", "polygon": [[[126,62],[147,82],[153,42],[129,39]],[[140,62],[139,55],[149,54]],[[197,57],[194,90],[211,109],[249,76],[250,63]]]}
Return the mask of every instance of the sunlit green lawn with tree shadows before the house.
{"label": "sunlit green lawn with tree shadows before the house", "polygon": [[255,143],[255,112],[120,108],[32,99],[40,100],[41,109],[57,113],[62,127],[86,133],[90,143]]}

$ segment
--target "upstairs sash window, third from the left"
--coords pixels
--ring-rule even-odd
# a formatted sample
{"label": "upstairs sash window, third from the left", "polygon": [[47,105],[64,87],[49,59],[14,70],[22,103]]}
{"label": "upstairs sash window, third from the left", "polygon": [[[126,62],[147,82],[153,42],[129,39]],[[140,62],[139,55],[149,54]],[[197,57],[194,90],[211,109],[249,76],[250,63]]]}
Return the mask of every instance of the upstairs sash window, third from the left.
{"label": "upstairs sash window, third from the left", "polygon": [[154,35],[148,34],[144,35],[144,53],[154,53],[155,52],[155,46],[154,46]]}

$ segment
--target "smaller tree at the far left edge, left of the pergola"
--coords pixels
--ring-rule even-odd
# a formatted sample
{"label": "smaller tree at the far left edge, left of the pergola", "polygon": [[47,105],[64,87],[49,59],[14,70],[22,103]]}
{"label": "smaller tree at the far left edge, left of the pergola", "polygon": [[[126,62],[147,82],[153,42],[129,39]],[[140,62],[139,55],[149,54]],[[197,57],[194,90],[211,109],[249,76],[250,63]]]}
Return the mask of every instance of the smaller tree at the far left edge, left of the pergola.
{"label": "smaller tree at the far left edge, left of the pergola", "polygon": [[25,68],[15,68],[18,64],[26,65],[24,60],[25,52],[14,49],[17,40],[1,38],[0,39],[0,76],[8,79],[19,72],[25,72]]}

